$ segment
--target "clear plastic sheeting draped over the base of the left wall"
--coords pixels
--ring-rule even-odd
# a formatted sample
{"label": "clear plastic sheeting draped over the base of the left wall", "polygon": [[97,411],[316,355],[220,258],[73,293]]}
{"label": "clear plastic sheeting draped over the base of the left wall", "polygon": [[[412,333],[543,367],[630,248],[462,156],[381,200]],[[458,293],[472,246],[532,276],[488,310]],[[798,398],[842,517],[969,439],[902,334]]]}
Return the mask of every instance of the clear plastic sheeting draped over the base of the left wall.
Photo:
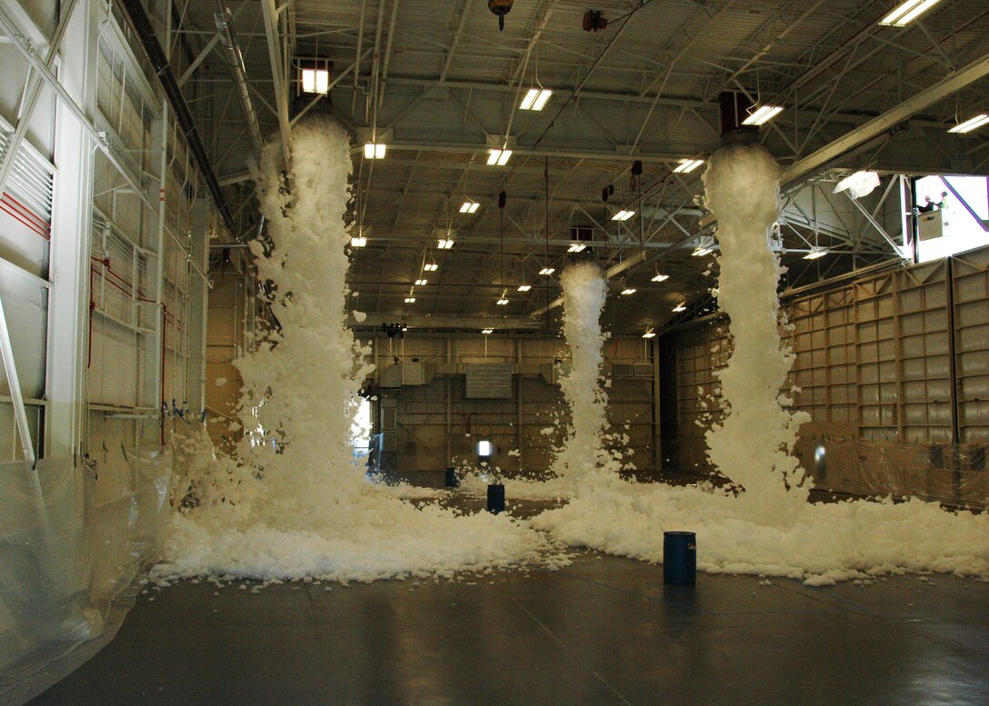
{"label": "clear plastic sheeting draped over the base of the left wall", "polygon": [[156,556],[171,453],[126,456],[105,468],[68,458],[0,464],[0,698],[102,635],[115,598]]}

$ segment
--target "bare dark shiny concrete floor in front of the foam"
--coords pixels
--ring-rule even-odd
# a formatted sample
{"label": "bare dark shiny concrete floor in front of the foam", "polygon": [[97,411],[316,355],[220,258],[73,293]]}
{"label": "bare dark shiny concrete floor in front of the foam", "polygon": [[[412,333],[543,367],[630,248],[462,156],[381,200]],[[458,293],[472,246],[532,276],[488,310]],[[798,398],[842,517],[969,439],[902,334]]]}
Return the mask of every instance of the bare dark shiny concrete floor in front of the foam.
{"label": "bare dark shiny concrete floor in front of the foam", "polygon": [[140,595],[109,647],[31,703],[989,703],[989,583],[662,574],[587,553],[561,572],[328,591],[184,582]]}

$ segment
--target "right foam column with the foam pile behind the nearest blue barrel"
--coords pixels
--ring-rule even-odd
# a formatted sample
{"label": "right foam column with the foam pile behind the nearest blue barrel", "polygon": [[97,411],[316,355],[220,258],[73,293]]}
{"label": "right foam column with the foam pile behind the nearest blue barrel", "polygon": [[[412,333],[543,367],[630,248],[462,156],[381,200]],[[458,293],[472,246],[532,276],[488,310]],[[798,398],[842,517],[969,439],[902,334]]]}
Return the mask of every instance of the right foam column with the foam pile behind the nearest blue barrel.
{"label": "right foam column with the foam pile behind the nearest blue barrel", "polygon": [[718,304],[734,343],[719,376],[726,414],[707,442],[712,464],[744,491],[594,477],[533,525],[573,546],[654,562],[663,560],[664,531],[690,530],[701,570],[816,585],[901,571],[989,576],[989,515],[916,499],[806,502],[810,484],[790,452],[808,417],[778,393],[792,363],[777,333],[779,265],[768,245],[778,180],[758,144],[722,148],[705,174],[707,204],[719,218]]}

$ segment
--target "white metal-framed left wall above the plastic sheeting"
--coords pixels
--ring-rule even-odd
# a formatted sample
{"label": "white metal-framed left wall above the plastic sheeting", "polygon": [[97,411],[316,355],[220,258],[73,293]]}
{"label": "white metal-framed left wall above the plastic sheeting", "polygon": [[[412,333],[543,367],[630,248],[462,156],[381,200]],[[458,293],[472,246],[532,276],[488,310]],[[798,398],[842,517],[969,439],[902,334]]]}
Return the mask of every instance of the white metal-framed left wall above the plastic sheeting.
{"label": "white metal-framed left wall above the plastic sheeting", "polygon": [[[51,3],[5,0],[4,7],[26,37],[44,40],[53,33],[58,18]],[[43,206],[47,175],[50,214],[41,207],[28,209],[38,219],[0,211],[0,297],[41,455],[89,452],[122,464],[122,444],[160,442],[163,400],[171,410],[173,398],[183,408],[191,397],[197,408],[189,409],[197,415],[203,404],[202,373],[190,374],[190,366],[203,364],[209,290],[203,273],[216,219],[212,204],[198,197],[205,193],[201,179],[139,55],[102,3],[78,0],[59,46],[58,75],[76,104],[88,106],[92,124],[83,128],[46,87],[19,159],[31,167],[26,174],[34,191],[27,196]],[[10,43],[0,44],[0,58],[0,133],[11,134],[21,120],[28,64]],[[95,148],[90,130],[105,133],[117,165]],[[135,193],[131,184],[144,192]],[[18,197],[18,188],[12,181],[5,192]],[[37,232],[38,221],[42,230],[50,224],[50,243]],[[49,292],[57,293],[50,310]],[[193,320],[198,333],[191,331]],[[0,372],[0,458],[17,459],[9,392]],[[45,424],[47,448],[41,444]],[[169,426],[170,420],[164,436]]]}

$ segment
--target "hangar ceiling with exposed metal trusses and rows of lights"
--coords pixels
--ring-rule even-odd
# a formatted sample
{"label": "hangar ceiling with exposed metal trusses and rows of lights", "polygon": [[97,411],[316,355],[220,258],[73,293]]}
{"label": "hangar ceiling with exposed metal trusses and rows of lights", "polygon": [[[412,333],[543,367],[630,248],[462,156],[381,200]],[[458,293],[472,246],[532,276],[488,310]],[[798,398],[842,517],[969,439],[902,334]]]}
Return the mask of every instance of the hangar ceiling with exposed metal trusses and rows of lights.
{"label": "hangar ceiling with exposed metal trusses and rows of lights", "polygon": [[[905,28],[881,26],[895,4],[515,0],[503,31],[483,0],[175,0],[170,17],[163,2],[152,15],[157,9],[159,33],[172,38],[238,236],[255,230],[257,217],[245,171],[249,132],[216,39],[222,8],[265,137],[281,138],[301,113],[331,115],[353,137],[353,221],[368,241],[354,253],[351,281],[370,320],[541,321],[560,294],[555,278],[575,256],[571,229],[581,226],[590,228],[590,256],[612,275],[607,315],[632,331],[662,326],[679,303],[706,303],[713,260],[691,255],[710,233],[698,198],[703,169],[674,168],[719,145],[724,91],[784,108],[761,138],[791,170],[928,97],[790,186],[780,230],[789,285],[897,256],[888,242],[902,221],[895,175],[986,173],[984,134],[947,130],[989,110],[989,5],[943,0]],[[588,9],[600,11],[606,29],[584,31]],[[331,66],[331,89],[315,100],[301,94],[296,68],[310,58]],[[966,68],[963,80],[944,85]],[[552,97],[540,112],[519,110],[533,87]],[[363,156],[372,139],[387,144],[384,159]],[[512,149],[507,164],[487,164],[492,146]],[[832,193],[838,177],[865,167],[884,175],[881,189],[858,205]],[[465,201],[478,210],[459,213]],[[623,209],[635,216],[612,221]],[[446,233],[455,245],[440,250]],[[832,253],[804,260],[815,245]],[[436,271],[423,274],[433,262]],[[544,268],[555,273],[540,276]],[[670,279],[654,282],[658,273]],[[428,284],[406,305],[419,278]],[[620,296],[625,289],[637,292]],[[495,304],[502,292],[506,306]]]}

